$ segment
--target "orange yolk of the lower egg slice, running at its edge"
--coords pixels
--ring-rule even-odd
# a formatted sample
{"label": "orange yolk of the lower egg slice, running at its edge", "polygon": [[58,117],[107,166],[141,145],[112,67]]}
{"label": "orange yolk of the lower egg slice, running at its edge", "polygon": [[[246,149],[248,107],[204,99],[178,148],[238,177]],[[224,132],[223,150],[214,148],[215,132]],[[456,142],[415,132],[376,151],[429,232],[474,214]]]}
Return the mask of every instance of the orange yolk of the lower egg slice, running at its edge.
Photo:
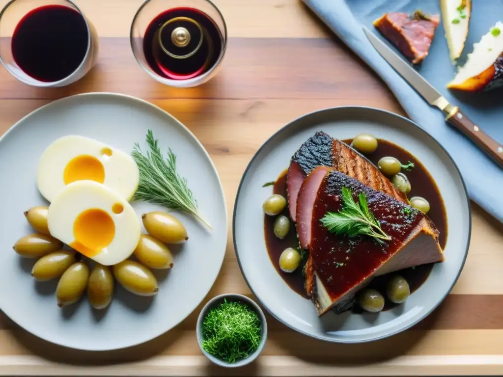
{"label": "orange yolk of the lower egg slice, running at its edge", "polygon": [[105,211],[92,208],[80,213],[73,223],[75,241],[70,247],[87,257],[99,254],[113,241],[115,223]]}

